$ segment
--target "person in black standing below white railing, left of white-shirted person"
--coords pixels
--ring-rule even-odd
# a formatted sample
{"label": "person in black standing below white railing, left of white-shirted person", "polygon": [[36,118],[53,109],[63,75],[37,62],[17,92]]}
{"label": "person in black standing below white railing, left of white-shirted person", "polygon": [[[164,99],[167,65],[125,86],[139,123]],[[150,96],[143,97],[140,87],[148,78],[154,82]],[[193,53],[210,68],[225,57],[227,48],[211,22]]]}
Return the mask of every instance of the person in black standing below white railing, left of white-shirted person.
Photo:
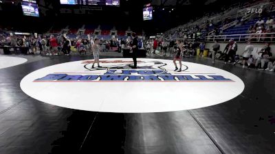
{"label": "person in black standing below white railing, left of white-shirted person", "polygon": [[230,39],[230,42],[226,45],[225,49],[223,50],[223,53],[225,53],[224,64],[226,64],[229,61],[229,57],[231,57],[230,62],[235,62],[234,56],[236,55],[237,50],[238,45],[236,44],[234,39]]}

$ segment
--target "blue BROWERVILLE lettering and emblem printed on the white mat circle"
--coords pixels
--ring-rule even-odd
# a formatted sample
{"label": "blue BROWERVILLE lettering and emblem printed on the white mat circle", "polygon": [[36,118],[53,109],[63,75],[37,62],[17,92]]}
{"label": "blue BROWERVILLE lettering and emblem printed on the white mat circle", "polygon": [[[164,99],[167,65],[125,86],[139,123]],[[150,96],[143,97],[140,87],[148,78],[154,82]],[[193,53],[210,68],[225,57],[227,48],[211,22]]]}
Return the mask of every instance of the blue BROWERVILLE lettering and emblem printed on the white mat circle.
{"label": "blue BROWERVILLE lettering and emblem printed on the white mat circle", "polygon": [[[138,62],[138,69],[131,69],[132,61],[102,61],[102,68],[91,68],[93,61],[82,62],[87,73],[52,73],[34,82],[232,82],[221,75],[199,75],[185,73],[188,66],[183,65],[183,72],[168,70],[165,62]],[[107,65],[106,65],[107,64]],[[89,74],[91,73],[91,74]],[[83,75],[85,74],[85,75]]]}

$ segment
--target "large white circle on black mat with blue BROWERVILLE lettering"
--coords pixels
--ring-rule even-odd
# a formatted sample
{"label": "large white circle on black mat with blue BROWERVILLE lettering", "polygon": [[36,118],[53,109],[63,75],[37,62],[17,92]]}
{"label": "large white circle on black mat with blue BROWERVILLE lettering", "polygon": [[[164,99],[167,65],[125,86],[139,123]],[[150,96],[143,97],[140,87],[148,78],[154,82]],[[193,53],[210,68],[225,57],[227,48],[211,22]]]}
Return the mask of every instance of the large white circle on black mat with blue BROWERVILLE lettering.
{"label": "large white circle on black mat with blue BROWERVILLE lettering", "polygon": [[[21,81],[30,97],[61,107],[93,112],[171,112],[208,107],[243,92],[239,77],[219,68],[171,60],[102,59],[56,64]],[[177,64],[179,66],[179,64]]]}

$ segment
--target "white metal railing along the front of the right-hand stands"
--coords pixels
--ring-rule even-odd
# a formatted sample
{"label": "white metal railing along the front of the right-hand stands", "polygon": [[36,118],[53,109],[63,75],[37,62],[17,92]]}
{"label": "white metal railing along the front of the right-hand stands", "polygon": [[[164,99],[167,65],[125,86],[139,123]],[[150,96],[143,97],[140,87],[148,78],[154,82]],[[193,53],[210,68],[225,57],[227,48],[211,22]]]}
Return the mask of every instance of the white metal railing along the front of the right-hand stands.
{"label": "white metal railing along the front of the right-hand stands", "polygon": [[217,40],[219,42],[227,42],[230,39],[234,39],[238,42],[245,42],[248,40],[256,40],[256,42],[261,42],[266,39],[274,38],[275,33],[261,33],[261,34],[231,34],[231,35],[221,35],[221,36],[206,36],[206,41]]}

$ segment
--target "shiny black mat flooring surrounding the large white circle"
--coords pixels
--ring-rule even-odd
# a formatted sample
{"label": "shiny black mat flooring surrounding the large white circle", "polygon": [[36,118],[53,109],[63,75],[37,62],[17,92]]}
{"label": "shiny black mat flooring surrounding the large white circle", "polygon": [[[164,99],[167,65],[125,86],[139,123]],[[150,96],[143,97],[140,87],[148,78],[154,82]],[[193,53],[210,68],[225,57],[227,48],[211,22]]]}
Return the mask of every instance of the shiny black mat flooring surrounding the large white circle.
{"label": "shiny black mat flooring surrounding the large white circle", "polygon": [[[185,61],[236,75],[245,89],[230,101],[195,110],[89,112],[37,101],[21,90],[20,82],[34,70],[91,56],[8,57],[28,62],[0,69],[0,153],[275,153],[275,73],[190,58]],[[106,54],[100,58],[120,57]],[[148,58],[171,60],[159,55]],[[195,92],[195,97],[203,94],[201,89]],[[83,97],[93,99],[92,95]]]}

